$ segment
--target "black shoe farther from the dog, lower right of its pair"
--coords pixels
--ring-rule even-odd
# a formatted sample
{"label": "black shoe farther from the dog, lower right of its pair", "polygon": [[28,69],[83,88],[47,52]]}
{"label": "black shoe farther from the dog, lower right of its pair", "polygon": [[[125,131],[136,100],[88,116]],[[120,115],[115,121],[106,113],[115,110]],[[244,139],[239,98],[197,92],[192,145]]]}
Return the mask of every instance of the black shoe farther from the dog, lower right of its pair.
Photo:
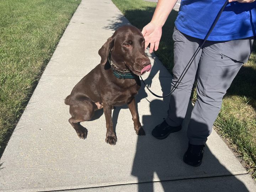
{"label": "black shoe farther from the dog, lower right of its pair", "polygon": [[188,149],[183,156],[183,161],[191,166],[197,167],[202,164],[204,145],[192,145],[188,143]]}

